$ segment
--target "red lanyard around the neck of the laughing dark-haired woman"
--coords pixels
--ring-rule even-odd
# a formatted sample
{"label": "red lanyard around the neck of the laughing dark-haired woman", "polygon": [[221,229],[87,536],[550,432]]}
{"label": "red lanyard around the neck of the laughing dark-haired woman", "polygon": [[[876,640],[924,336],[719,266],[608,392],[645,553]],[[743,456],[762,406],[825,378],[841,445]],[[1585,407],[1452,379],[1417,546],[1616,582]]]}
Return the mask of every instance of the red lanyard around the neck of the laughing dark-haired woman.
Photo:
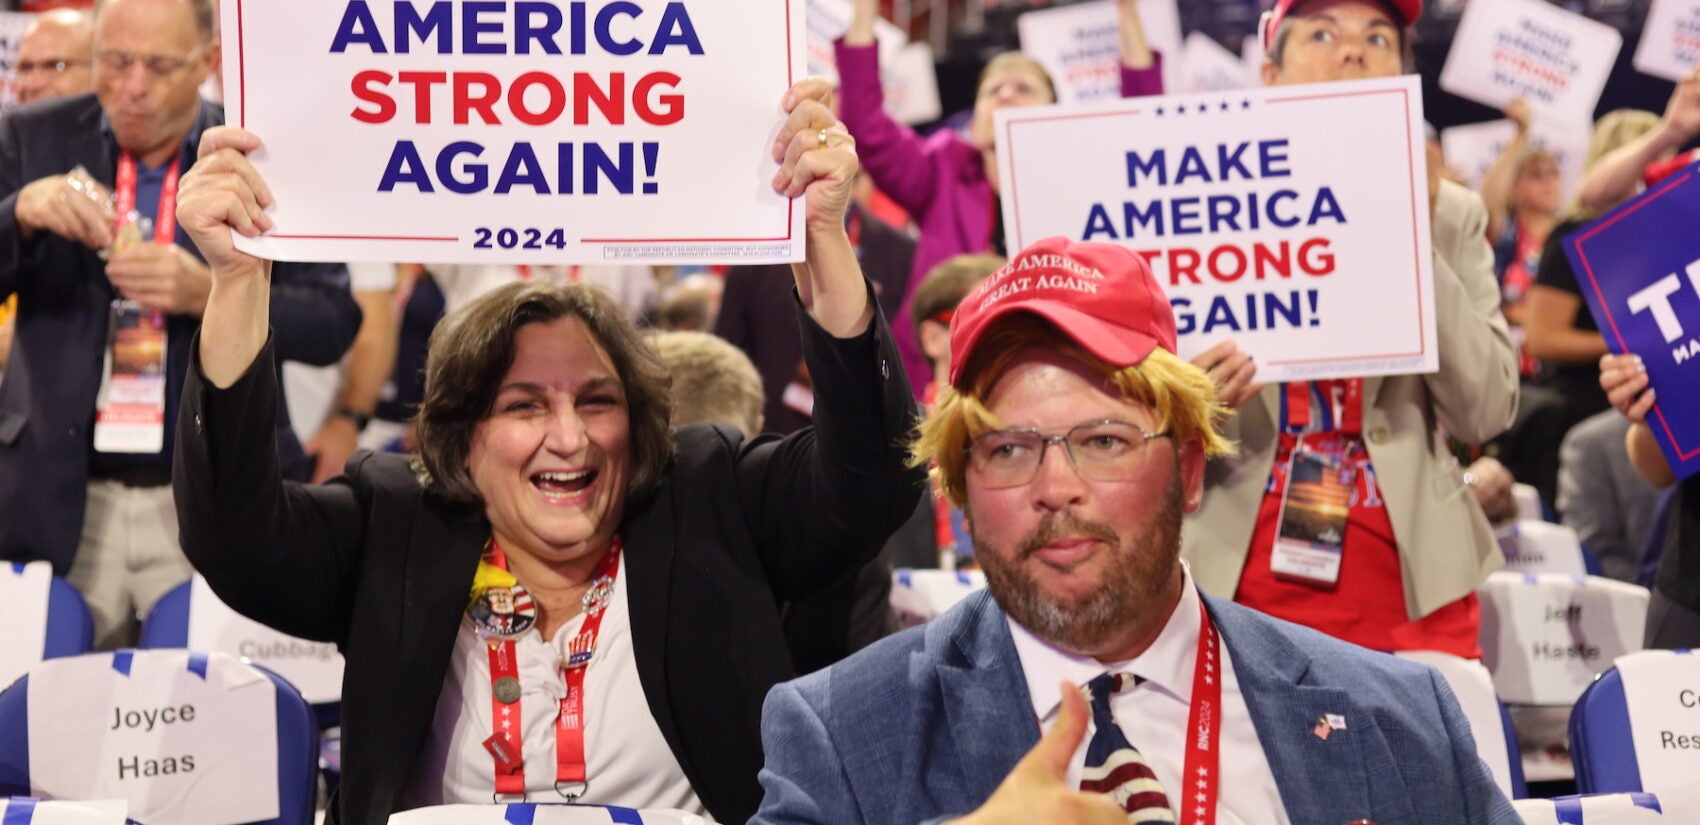
{"label": "red lanyard around the neck of the laughing dark-haired woman", "polygon": [[[507,553],[495,541],[490,543],[490,563],[508,568]],[[578,636],[568,643],[566,658],[566,697],[554,716],[554,789],[566,801],[575,801],[588,789],[585,767],[585,672],[590,657],[597,651],[597,636],[602,633],[602,617],[607,616],[609,597],[614,590],[614,578],[620,570],[620,539],[602,556],[595,575],[590,577],[590,590],[585,594],[585,624]],[[600,602],[600,604],[598,604]],[[520,677],[518,657],[513,641],[490,643],[490,709],[495,731],[484,740],[496,771],[496,794],[525,796],[525,750],[524,731],[520,730],[520,701],[503,703],[496,684],[503,679]],[[578,793],[563,789],[566,784],[581,786]]]}

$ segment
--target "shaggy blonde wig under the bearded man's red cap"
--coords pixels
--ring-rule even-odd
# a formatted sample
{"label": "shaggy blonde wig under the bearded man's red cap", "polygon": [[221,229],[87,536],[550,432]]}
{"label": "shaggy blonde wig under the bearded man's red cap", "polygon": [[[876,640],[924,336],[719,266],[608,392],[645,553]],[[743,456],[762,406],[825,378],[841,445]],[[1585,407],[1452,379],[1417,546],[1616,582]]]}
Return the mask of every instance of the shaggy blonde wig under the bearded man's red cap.
{"label": "shaggy blonde wig under the bearded man's red cap", "polygon": [[938,490],[957,507],[967,505],[967,446],[979,435],[1001,427],[986,408],[986,398],[1015,359],[1027,350],[1054,352],[1074,361],[1115,386],[1122,398],[1149,407],[1156,413],[1158,432],[1180,444],[1197,439],[1207,458],[1231,456],[1238,449],[1219,430],[1227,408],[1216,400],[1210,376],[1161,347],[1130,367],[1115,367],[1069,339],[1037,315],[1008,318],[978,342],[962,378],[938,393],[938,405],[921,422],[910,444],[910,466],[932,466]]}

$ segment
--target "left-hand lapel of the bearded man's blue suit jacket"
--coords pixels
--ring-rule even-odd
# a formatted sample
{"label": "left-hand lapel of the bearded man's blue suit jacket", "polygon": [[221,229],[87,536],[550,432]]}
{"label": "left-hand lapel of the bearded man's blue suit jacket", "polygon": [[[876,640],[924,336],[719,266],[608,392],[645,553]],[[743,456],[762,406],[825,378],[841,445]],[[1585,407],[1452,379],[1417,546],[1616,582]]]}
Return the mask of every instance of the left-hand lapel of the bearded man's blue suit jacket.
{"label": "left-hand lapel of the bearded man's blue suit jacket", "polygon": [[[960,658],[937,665],[949,740],[955,747],[964,799],[978,808],[1039,742],[1039,720],[1003,611],[984,590],[952,629]],[[925,730],[928,720],[915,720]],[[966,810],[964,810],[966,813]]]}

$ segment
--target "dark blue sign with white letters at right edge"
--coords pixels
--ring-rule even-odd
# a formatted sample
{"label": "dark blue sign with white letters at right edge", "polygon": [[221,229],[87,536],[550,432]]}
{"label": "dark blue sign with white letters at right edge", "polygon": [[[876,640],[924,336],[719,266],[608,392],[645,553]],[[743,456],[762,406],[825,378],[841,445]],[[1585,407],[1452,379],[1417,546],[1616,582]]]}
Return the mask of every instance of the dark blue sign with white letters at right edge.
{"label": "dark blue sign with white letters at right edge", "polygon": [[1606,347],[1647,366],[1647,427],[1676,478],[1700,471],[1700,245],[1671,231],[1695,216],[1700,174],[1688,167],[1564,238]]}

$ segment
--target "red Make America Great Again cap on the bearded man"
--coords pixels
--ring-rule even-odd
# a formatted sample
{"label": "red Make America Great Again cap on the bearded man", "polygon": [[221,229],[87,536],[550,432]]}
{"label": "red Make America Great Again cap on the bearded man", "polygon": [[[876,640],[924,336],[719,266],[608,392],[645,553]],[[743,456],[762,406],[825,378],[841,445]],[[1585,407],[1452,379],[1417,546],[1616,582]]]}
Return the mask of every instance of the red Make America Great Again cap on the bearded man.
{"label": "red Make America Great Again cap on the bearded man", "polygon": [[1175,352],[1175,310],[1151,265],[1127,247],[1044,238],[1017,253],[957,304],[950,320],[950,386],[998,318],[1034,313],[1115,367]]}

